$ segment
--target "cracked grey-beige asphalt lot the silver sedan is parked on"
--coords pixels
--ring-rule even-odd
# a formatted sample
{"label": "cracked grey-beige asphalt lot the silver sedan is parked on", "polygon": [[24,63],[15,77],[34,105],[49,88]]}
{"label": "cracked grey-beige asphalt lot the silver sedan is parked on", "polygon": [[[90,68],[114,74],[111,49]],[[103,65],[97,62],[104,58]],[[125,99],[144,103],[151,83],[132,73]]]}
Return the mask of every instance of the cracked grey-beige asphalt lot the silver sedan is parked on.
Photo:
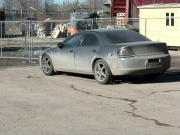
{"label": "cracked grey-beige asphalt lot the silver sedan is parked on", "polygon": [[111,85],[0,59],[0,135],[179,135],[180,53],[171,54],[156,80],[124,76]]}

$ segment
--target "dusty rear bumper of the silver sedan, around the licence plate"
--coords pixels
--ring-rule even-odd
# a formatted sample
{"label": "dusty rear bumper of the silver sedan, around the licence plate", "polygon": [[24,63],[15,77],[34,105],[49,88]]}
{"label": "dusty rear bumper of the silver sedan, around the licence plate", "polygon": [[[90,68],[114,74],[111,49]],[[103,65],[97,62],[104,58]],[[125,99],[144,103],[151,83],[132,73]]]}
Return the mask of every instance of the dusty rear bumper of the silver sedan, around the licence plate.
{"label": "dusty rear bumper of the silver sedan, around the licence plate", "polygon": [[[160,59],[162,66],[146,67],[146,62],[150,59]],[[113,75],[146,75],[162,73],[171,66],[171,57],[169,54],[154,56],[136,56],[128,58],[118,58],[109,61],[109,66]]]}

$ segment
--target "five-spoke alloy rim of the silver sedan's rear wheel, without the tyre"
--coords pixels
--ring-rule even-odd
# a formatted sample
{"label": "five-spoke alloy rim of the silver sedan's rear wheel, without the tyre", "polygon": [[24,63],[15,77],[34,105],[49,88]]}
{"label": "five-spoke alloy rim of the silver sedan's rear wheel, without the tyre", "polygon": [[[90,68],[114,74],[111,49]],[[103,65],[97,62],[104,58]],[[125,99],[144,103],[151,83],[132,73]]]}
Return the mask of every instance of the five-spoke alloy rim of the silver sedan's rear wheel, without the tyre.
{"label": "five-spoke alloy rim of the silver sedan's rear wheel, without the tyre", "polygon": [[106,68],[103,63],[98,63],[95,67],[95,76],[100,82],[106,78]]}

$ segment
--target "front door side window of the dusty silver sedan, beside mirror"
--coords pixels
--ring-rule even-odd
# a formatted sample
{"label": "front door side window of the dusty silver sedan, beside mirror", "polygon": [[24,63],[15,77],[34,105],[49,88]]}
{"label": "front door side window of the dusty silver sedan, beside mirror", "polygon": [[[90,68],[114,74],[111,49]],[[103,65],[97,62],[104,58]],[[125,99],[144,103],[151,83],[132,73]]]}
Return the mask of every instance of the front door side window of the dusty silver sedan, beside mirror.
{"label": "front door side window of the dusty silver sedan, beside mirror", "polygon": [[63,45],[64,45],[64,46],[69,46],[69,47],[70,47],[70,46],[72,46],[72,47],[77,47],[77,46],[80,44],[80,42],[81,42],[82,35],[83,35],[83,34],[76,34],[76,35],[68,38],[67,40],[65,40],[65,41],[63,42]]}

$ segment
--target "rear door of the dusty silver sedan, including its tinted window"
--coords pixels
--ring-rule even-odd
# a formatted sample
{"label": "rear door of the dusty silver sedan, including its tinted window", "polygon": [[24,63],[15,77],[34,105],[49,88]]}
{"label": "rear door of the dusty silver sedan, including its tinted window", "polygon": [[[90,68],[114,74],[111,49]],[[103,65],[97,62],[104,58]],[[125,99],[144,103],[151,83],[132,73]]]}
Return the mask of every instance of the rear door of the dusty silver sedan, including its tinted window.
{"label": "rear door of the dusty silver sedan, including its tinted window", "polygon": [[75,53],[75,67],[78,72],[92,73],[92,60],[100,47],[100,38],[93,32],[88,32]]}

